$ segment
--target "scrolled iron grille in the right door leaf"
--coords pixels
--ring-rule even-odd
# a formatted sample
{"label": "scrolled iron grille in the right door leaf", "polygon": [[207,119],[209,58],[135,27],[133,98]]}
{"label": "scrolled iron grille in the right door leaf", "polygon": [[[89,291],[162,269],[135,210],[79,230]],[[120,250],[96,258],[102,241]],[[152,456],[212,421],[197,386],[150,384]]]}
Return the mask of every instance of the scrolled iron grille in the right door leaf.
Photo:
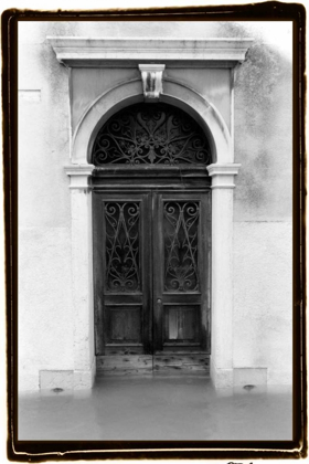
{"label": "scrolled iron grille in the right door leaf", "polygon": [[198,234],[200,204],[164,202],[164,289],[199,291]]}

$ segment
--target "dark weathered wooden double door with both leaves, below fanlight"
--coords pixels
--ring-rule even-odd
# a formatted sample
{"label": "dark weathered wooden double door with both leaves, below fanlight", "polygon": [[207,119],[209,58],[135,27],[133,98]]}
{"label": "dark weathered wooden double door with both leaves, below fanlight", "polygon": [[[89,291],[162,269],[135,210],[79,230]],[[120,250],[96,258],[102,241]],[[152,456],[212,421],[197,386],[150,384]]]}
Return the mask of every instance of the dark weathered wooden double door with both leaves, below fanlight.
{"label": "dark weathered wooden double door with both leaves, below fanlight", "polygon": [[99,366],[113,363],[110,357],[117,365],[118,356],[151,368],[156,356],[210,352],[210,194],[94,191]]}

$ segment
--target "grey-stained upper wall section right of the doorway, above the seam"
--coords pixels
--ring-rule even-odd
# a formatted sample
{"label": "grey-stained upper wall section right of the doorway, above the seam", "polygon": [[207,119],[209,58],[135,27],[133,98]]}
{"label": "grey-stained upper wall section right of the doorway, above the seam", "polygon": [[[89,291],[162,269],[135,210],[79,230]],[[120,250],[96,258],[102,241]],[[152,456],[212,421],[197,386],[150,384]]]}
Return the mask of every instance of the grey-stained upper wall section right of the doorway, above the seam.
{"label": "grey-stained upper wall section right of the doorway, above the seam", "polygon": [[292,67],[288,50],[266,42],[238,23],[220,27],[222,36],[254,36],[235,78],[235,162],[242,168],[235,219],[291,215]]}

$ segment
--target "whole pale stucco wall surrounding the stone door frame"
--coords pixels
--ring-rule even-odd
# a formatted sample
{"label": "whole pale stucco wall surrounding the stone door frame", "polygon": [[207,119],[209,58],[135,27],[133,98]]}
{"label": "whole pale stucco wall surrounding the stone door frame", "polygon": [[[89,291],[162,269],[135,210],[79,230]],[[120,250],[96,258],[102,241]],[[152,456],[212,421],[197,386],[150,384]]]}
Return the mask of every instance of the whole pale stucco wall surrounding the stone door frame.
{"label": "whole pale stucco wall surrounding the stone door frame", "polygon": [[[275,28],[277,28],[275,30]],[[234,202],[235,367],[266,367],[270,383],[291,377],[291,45],[280,24],[21,23],[19,48],[19,370],[21,389],[39,387],[39,370],[73,369],[71,296],[70,134],[89,102],[135,70],[72,72],[46,35],[249,36],[236,70],[235,161],[242,164]],[[285,39],[290,38],[285,25]],[[275,33],[277,32],[277,34]],[[277,42],[276,42],[277,39]],[[290,42],[291,44],[291,42]],[[180,70],[168,70],[171,77]],[[181,72],[233,128],[224,93],[227,70]],[[92,77],[90,77],[92,76]],[[87,82],[96,82],[87,85]],[[222,85],[221,85],[222,84]],[[221,86],[221,87],[220,87]],[[220,92],[221,88],[221,92]],[[32,92],[30,92],[32,91]],[[232,123],[232,124],[231,124]]]}

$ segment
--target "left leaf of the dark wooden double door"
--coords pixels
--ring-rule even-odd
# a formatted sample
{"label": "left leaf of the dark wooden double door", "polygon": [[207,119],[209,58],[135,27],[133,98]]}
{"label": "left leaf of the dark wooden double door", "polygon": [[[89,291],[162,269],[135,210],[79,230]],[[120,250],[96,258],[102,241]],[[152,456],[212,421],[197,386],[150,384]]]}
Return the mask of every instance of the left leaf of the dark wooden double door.
{"label": "left leaf of the dark wooden double door", "polygon": [[[151,350],[149,193],[94,193],[96,354]],[[98,305],[98,302],[100,303]]]}

